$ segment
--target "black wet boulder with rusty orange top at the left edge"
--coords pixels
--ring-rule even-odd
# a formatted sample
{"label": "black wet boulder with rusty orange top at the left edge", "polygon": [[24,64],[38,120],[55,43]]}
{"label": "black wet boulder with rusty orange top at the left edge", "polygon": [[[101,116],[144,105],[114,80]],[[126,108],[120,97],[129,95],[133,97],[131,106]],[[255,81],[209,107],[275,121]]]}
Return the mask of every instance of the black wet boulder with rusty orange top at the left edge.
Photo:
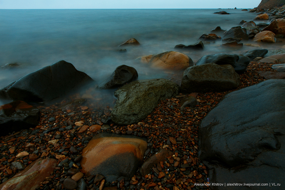
{"label": "black wet boulder with rusty orange top at the left edge", "polygon": [[34,128],[40,120],[40,110],[26,102],[15,101],[0,106],[1,136],[13,131]]}

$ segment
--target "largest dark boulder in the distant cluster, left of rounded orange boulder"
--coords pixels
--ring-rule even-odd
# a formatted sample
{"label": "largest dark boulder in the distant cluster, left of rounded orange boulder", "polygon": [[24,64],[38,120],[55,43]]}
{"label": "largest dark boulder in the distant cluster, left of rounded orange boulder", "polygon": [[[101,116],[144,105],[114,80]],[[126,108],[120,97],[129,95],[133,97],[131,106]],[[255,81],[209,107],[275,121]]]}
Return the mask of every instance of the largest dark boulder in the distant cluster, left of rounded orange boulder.
{"label": "largest dark boulder in the distant cluster, left of rounded orange boulder", "polygon": [[247,30],[245,28],[237,26],[225,31],[222,38],[224,41],[241,41],[248,40],[249,36],[247,35]]}

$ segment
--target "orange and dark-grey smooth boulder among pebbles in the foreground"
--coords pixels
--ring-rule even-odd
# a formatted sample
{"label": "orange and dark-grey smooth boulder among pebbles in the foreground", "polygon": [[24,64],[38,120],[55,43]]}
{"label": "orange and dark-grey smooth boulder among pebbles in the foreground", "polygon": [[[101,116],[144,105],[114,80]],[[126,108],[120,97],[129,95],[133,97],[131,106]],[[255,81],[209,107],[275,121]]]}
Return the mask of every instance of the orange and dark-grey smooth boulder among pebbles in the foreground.
{"label": "orange and dark-grey smooth boulder among pebbles in the foreground", "polygon": [[143,138],[101,133],[83,149],[80,164],[87,175],[101,174],[110,183],[128,181],[141,167],[146,149]]}

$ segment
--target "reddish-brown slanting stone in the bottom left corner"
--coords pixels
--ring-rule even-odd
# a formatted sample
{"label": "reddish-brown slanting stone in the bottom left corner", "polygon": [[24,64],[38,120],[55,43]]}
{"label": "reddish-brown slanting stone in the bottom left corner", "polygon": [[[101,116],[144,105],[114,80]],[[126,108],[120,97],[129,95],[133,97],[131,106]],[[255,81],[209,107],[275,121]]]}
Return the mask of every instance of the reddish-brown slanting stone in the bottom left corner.
{"label": "reddish-brown slanting stone in the bottom left corner", "polygon": [[0,189],[35,190],[56,167],[56,159],[38,159],[18,172],[14,177],[2,183]]}

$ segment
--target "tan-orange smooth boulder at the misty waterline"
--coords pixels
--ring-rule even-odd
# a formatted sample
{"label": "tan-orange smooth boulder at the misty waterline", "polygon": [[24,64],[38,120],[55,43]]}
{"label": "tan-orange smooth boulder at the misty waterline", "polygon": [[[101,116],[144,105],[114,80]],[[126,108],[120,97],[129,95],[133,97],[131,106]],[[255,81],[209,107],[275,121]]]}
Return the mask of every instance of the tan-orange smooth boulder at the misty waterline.
{"label": "tan-orange smooth boulder at the misty waterline", "polygon": [[186,69],[187,67],[193,65],[193,61],[188,55],[176,51],[167,51],[158,54],[146,55],[137,58],[137,60],[150,64],[155,68],[171,70]]}

